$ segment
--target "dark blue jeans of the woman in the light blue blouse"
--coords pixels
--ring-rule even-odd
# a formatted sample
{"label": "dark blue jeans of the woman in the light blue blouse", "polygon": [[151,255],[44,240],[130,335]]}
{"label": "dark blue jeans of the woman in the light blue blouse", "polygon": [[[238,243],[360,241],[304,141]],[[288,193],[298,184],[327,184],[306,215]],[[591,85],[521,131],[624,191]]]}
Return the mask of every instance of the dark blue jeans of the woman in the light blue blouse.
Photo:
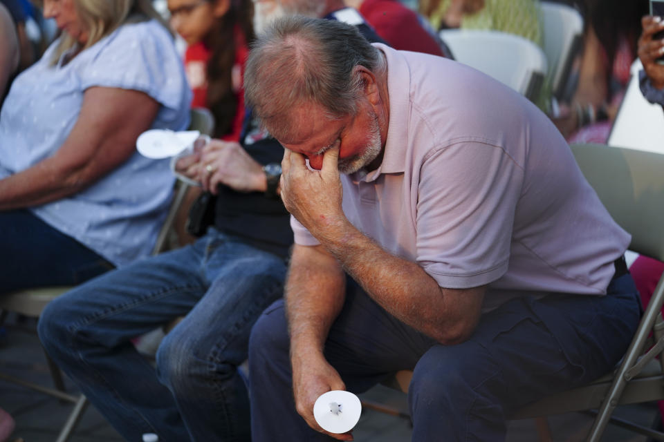
{"label": "dark blue jeans of the woman in the light blue blouse", "polygon": [[77,285],[113,269],[94,251],[30,211],[0,212],[0,294]]}

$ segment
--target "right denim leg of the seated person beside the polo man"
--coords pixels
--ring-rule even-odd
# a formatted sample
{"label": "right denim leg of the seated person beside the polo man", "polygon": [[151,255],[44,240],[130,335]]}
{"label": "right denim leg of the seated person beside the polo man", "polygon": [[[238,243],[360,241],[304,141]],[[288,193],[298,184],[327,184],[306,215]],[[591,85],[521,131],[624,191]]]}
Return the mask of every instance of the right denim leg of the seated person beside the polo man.
{"label": "right denim leg of the seated person beside the polo man", "polygon": [[248,356],[252,325],[282,296],[285,273],[272,253],[219,244],[208,261],[210,289],[160,345],[158,376],[192,440],[250,440],[248,392],[237,366]]}

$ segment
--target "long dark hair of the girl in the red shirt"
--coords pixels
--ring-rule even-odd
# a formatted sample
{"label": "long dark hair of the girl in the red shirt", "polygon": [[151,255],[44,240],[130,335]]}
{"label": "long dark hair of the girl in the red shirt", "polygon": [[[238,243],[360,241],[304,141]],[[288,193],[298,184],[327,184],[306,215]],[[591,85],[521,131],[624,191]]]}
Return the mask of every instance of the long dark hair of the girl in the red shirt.
{"label": "long dark hair of the girl in the red shirt", "polygon": [[237,45],[235,30],[239,28],[246,44],[251,44],[255,37],[253,10],[252,0],[230,0],[228,12],[214,23],[210,34],[205,38],[205,44],[212,49],[207,68],[206,102],[214,115],[216,137],[231,130],[237,111],[237,96],[232,88],[232,69]]}

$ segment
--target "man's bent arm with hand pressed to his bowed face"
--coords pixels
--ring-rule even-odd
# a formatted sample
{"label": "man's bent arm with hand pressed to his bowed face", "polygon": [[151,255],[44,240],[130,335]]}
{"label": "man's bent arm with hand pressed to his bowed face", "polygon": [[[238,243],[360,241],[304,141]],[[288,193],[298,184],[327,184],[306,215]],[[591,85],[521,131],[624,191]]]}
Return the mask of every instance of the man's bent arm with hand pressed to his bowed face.
{"label": "man's bent arm with hand pressed to his bowed face", "polygon": [[486,287],[439,287],[416,262],[392,255],[353,227],[342,210],[337,159],[338,149],[330,149],[323,169],[310,171],[302,155],[287,151],[282,162],[286,209],[390,314],[445,345],[468,339]]}

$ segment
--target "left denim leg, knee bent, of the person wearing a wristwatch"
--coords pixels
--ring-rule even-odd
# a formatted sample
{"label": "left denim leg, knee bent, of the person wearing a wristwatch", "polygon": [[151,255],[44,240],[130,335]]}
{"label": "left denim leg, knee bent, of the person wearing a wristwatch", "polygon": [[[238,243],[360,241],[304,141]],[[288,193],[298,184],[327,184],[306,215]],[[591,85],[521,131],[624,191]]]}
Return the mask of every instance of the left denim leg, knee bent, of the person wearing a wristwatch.
{"label": "left denim leg, knee bent, of the person wearing a wristwatch", "polygon": [[176,403],[130,339],[187,314],[205,293],[204,240],[105,273],[50,302],[48,354],[129,441],[189,439]]}

